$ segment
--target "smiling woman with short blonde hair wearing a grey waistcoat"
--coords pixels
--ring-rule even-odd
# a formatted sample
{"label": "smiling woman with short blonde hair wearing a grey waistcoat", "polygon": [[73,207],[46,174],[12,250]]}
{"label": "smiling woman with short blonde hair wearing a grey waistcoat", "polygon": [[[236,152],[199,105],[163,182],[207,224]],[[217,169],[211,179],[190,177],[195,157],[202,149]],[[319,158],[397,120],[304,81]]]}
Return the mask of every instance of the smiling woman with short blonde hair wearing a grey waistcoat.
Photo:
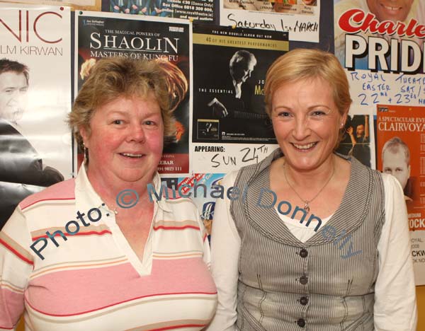
{"label": "smiling woman with short blonde hair wearing a grey waistcoat", "polygon": [[243,199],[215,207],[208,330],[415,330],[402,188],[334,153],[351,104],[344,69],[293,50],[268,69],[265,96],[280,148],[224,180]]}

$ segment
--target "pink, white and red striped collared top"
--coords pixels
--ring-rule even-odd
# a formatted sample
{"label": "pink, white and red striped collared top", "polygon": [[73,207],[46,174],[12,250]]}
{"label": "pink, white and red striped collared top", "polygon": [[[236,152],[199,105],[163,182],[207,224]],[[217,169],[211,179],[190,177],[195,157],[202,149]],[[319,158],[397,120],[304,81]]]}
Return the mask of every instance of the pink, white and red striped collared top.
{"label": "pink, white and red striped collared top", "polygon": [[[160,185],[159,175],[154,178]],[[154,202],[140,261],[115,215],[102,205],[81,167],[77,178],[24,199],[0,232],[0,330],[24,313],[26,330],[201,330],[215,314],[210,250],[195,205],[184,198]],[[77,211],[98,208],[90,226]],[[65,224],[78,221],[70,236]],[[30,249],[47,238],[40,259]],[[74,230],[74,228],[72,228]],[[41,246],[41,243],[40,243]],[[39,246],[37,246],[39,247]]]}

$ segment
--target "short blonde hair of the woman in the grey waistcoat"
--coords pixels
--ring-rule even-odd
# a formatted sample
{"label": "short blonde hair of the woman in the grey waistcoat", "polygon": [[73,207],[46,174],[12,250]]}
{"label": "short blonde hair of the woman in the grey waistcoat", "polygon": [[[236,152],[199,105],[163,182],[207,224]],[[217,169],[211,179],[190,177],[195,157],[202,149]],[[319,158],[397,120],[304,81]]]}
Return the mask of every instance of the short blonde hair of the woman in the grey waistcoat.
{"label": "short blonde hair of the woman in the grey waistcoat", "polygon": [[271,116],[273,93],[285,83],[305,79],[322,79],[329,83],[339,113],[344,115],[348,111],[352,100],[348,79],[339,60],[329,52],[297,48],[276,59],[268,68],[264,86],[268,116]]}

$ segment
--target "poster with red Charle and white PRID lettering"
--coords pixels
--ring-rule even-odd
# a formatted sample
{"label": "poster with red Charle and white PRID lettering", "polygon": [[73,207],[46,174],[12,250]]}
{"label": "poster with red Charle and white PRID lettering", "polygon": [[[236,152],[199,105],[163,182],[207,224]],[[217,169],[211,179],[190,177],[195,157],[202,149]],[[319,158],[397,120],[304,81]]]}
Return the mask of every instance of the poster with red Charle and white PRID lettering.
{"label": "poster with red Charle and white PRID lettering", "polygon": [[425,1],[403,1],[397,10],[375,3],[334,0],[335,54],[346,68],[353,103],[373,109],[422,105]]}

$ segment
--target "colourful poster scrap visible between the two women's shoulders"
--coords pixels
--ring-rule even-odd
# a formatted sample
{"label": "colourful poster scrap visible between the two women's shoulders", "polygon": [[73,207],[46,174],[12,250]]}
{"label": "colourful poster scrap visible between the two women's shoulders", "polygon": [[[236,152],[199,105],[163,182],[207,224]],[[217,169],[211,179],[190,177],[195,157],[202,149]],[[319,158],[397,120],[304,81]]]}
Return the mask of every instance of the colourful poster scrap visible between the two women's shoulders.
{"label": "colourful poster scrap visible between the two women's shoulders", "polygon": [[168,187],[176,191],[176,194],[189,197],[196,204],[200,219],[207,231],[208,240],[211,235],[216,197],[226,198],[227,188],[220,192],[220,188],[215,187],[215,185],[221,185],[224,176],[223,173],[195,173],[191,177],[162,179]]}

